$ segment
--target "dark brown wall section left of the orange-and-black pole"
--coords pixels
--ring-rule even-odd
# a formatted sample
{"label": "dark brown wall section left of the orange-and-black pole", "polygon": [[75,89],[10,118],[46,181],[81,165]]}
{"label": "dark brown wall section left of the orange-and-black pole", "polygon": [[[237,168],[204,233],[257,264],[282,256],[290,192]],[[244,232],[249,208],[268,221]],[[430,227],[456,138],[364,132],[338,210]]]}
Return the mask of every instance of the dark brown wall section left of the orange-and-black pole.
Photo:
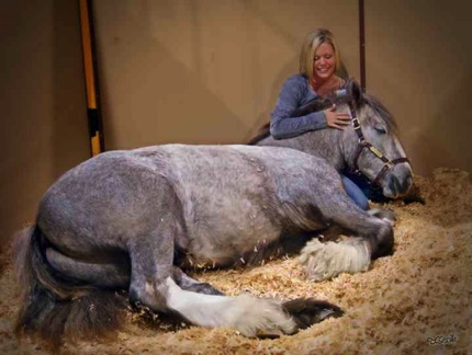
{"label": "dark brown wall section left of the orange-and-black pole", "polygon": [[4,241],[34,219],[53,181],[89,157],[89,145],[77,2],[2,1],[0,42]]}

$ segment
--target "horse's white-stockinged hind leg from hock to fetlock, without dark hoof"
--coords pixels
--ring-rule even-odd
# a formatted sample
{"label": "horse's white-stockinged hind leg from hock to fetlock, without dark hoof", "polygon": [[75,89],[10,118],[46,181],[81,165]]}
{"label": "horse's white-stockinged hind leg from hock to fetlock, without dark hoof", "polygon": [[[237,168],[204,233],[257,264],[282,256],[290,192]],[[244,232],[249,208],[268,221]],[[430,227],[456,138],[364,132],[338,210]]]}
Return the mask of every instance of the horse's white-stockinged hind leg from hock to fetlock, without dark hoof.
{"label": "horse's white-stockinged hind leg from hock to fetlock, without dark hoof", "polygon": [[[258,331],[296,331],[296,323],[280,302],[183,289],[188,286],[192,288],[194,283],[184,276],[182,278],[182,273],[172,265],[173,238],[169,224],[170,217],[164,217],[160,225],[162,228],[154,237],[150,236],[153,238],[142,238],[131,245],[130,295],[134,302],[155,311],[177,313],[196,325],[233,327],[248,336],[256,335]],[[179,282],[183,287],[179,286]]]}

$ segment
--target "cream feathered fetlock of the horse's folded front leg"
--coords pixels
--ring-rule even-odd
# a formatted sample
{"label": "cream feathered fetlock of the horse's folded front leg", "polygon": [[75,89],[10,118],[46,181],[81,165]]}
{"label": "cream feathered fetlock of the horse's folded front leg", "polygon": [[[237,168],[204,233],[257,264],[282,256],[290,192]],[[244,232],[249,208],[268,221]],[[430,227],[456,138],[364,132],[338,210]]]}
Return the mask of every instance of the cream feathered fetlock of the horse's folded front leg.
{"label": "cream feathered fetlock of the horse's folded front leg", "polygon": [[370,265],[370,253],[367,242],[359,238],[338,243],[322,243],[314,239],[302,250],[300,262],[306,265],[308,278],[324,280],[341,273],[355,274],[367,271]]}

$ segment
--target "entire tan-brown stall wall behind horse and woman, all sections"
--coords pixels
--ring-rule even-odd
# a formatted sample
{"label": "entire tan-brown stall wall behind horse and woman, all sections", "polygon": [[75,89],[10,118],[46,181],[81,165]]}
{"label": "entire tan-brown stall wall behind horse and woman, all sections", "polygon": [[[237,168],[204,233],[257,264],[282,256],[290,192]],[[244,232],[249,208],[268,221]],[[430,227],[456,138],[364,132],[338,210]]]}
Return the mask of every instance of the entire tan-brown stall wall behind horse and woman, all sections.
{"label": "entire tan-brown stall wall behind horse and woman, all sections", "polygon": [[[416,173],[472,171],[468,1],[366,0],[367,84],[396,115]],[[269,117],[299,47],[333,30],[359,78],[357,0],[94,1],[108,149],[241,142]],[[0,4],[0,238],[89,157],[78,2]]]}

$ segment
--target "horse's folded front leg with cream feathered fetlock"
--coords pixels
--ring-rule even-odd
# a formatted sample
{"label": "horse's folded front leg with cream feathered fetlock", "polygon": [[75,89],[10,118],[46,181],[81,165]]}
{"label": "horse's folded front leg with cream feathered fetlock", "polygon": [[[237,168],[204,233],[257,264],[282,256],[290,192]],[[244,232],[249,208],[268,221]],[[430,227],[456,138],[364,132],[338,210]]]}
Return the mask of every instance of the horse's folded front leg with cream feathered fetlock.
{"label": "horse's folded front leg with cream feathered fetlock", "polygon": [[341,273],[367,271],[371,260],[389,255],[393,251],[390,220],[370,216],[350,203],[337,207],[330,216],[325,216],[333,225],[353,237],[337,243],[312,240],[306,244],[300,261],[306,265],[307,276],[315,280],[333,278]]}

